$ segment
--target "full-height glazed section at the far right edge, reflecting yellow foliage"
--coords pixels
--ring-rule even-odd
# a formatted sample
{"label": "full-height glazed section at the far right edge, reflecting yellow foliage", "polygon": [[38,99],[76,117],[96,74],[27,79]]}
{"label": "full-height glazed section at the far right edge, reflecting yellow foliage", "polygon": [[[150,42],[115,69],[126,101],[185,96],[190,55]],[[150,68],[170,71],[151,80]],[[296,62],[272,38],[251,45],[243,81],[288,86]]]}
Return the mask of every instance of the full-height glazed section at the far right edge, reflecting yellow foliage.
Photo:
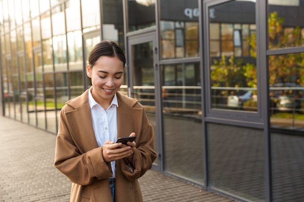
{"label": "full-height glazed section at the far right edge, reflecting yellow foliage", "polygon": [[304,187],[304,0],[272,0],[268,10],[273,202],[299,202]]}

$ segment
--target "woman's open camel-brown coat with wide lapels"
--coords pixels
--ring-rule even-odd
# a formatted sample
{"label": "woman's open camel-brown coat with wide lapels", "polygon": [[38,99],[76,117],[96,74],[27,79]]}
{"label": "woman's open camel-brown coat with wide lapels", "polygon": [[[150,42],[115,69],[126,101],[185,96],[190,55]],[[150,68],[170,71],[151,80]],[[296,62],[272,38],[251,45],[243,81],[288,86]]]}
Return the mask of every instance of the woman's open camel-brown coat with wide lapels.
{"label": "woman's open camel-brown coat with wide lapels", "polygon": [[[137,179],[151,169],[156,158],[153,129],[137,100],[120,93],[117,98],[118,138],[135,132],[136,151],[134,173],[122,159],[116,161],[116,202],[143,202]],[[112,202],[108,181],[112,169],[95,139],[88,90],[61,110],[54,165],[72,182],[70,202]]]}

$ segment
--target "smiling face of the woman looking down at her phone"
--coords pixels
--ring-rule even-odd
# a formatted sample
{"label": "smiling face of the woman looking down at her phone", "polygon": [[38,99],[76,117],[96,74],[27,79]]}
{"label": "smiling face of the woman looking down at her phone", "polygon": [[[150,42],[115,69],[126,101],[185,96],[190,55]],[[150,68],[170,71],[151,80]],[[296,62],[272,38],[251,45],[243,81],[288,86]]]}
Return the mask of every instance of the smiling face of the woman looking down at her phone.
{"label": "smiling face of the woman looking down at her phone", "polygon": [[92,80],[92,96],[102,107],[111,104],[123,82],[123,71],[124,64],[118,57],[101,56],[92,68],[86,66],[86,74]]}

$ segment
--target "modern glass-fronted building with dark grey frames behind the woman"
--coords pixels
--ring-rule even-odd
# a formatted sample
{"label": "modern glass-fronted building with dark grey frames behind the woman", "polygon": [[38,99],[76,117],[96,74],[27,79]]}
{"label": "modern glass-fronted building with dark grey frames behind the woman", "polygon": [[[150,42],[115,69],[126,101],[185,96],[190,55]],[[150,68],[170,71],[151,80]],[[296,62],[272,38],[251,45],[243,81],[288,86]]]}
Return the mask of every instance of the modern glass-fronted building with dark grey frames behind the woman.
{"label": "modern glass-fronted building with dark grey frames behind the woman", "polygon": [[244,202],[304,194],[304,0],[0,0],[2,115],[57,132],[101,40],[147,109],[153,169]]}

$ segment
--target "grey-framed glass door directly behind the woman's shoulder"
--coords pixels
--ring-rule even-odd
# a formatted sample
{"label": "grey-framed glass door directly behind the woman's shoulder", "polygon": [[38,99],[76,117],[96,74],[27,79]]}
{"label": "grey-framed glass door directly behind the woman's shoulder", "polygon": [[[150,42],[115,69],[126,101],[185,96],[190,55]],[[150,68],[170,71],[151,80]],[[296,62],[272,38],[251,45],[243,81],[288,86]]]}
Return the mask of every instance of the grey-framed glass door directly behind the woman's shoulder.
{"label": "grey-framed glass door directly behind the woman's shoulder", "polygon": [[154,150],[158,154],[153,169],[160,171],[161,99],[155,33],[129,38],[128,53],[129,96],[137,99],[146,109],[154,130]]}

